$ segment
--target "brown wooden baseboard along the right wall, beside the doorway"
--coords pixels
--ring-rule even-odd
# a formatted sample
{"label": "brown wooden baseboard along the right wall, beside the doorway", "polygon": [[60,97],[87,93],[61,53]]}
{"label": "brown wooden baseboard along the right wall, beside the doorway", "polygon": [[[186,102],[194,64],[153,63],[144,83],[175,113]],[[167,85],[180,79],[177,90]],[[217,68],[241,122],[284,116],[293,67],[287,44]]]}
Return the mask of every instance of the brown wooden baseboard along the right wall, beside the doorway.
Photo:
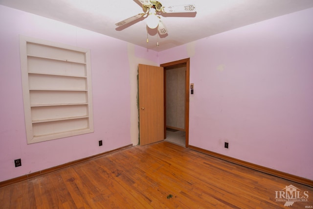
{"label": "brown wooden baseboard along the right wall, beside the doorway", "polygon": [[222,155],[222,154],[219,154],[219,153],[216,153],[216,152],[212,152],[212,151],[209,151],[209,150],[206,150],[206,149],[202,149],[200,147],[189,145],[188,148],[192,149],[192,150],[195,150],[195,151],[198,151],[198,152],[201,152],[201,153],[204,153],[204,154],[207,154],[207,155],[210,155],[210,156],[213,156],[213,157],[216,157],[216,158],[219,158],[219,159],[222,159],[222,160],[230,162],[230,163],[235,163],[235,164],[238,164],[238,165],[242,165],[242,166],[245,166],[247,168],[251,168],[251,169],[263,172],[263,173],[267,173],[267,174],[272,175],[272,176],[276,176],[276,177],[279,177],[279,178],[282,178],[282,179],[286,179],[286,180],[289,180],[289,181],[292,181],[292,182],[295,182],[295,183],[298,183],[298,184],[302,184],[302,185],[305,185],[305,186],[313,187],[313,181],[310,180],[310,179],[306,179],[306,178],[303,178],[303,177],[295,176],[295,175],[292,175],[292,174],[289,174],[289,173],[285,173],[285,172],[282,172],[282,171],[274,170],[272,168],[264,167],[264,166],[261,166],[261,165],[248,163],[246,161],[242,161],[242,160],[239,160],[239,159],[236,159],[236,158],[232,158],[232,157],[229,157],[229,156],[226,156],[226,155]]}

